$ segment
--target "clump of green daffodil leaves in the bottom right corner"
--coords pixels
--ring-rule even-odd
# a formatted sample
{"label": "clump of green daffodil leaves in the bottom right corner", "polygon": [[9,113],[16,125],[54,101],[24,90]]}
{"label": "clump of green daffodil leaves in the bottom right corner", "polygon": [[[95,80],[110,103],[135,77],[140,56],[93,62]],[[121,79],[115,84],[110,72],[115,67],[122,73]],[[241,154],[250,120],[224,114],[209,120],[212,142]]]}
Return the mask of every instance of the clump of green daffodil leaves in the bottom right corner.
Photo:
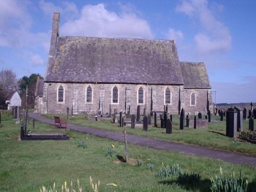
{"label": "clump of green daffodil leaves in the bottom right corner", "polygon": [[220,168],[220,176],[210,178],[210,189],[212,192],[245,192],[248,187],[247,178],[241,178],[241,171],[239,178],[233,173],[231,177],[224,177],[222,168]]}

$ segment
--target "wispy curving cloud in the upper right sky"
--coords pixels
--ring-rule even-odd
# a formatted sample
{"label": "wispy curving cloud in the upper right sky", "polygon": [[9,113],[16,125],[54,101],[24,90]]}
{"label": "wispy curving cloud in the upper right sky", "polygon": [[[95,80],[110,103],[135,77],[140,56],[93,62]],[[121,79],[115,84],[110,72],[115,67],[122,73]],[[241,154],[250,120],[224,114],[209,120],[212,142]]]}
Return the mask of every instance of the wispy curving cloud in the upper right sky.
{"label": "wispy curving cloud in the upper right sky", "polygon": [[199,22],[202,31],[195,35],[194,40],[200,54],[231,49],[232,38],[229,30],[216,18],[208,6],[208,1],[184,0],[176,10]]}

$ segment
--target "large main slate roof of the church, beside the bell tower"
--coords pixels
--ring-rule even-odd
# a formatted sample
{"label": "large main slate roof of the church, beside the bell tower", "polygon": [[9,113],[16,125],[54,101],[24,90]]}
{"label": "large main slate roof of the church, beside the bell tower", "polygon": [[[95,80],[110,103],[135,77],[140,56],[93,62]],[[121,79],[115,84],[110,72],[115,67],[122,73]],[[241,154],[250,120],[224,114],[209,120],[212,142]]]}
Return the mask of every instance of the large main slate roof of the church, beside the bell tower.
{"label": "large main slate roof of the church, beside the bell tower", "polygon": [[58,36],[46,82],[183,84],[174,40]]}

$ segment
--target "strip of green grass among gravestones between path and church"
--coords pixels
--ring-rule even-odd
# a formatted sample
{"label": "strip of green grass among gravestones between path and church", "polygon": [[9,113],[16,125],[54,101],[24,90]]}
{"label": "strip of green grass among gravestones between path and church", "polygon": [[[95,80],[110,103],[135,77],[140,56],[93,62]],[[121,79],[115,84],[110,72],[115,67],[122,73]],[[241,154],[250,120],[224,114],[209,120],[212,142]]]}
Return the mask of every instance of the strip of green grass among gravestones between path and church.
{"label": "strip of green grass among gravestones between path and church", "polygon": [[[54,115],[45,115],[46,117],[53,118]],[[62,118],[67,118],[64,115],[60,115]],[[129,120],[129,119],[127,119]],[[152,118],[153,120],[153,118]],[[154,121],[153,121],[154,122]],[[236,144],[236,140],[226,137],[226,121],[220,121],[219,116],[211,116],[211,122],[208,123],[208,129],[191,129],[185,127],[185,130],[179,129],[179,116],[173,116],[173,134],[165,134],[165,129],[156,128],[150,126],[148,131],[143,131],[143,127],[136,127],[135,129],[129,129],[129,126],[119,127],[119,123],[112,123],[112,120],[100,120],[93,121],[88,120],[85,115],[75,115],[73,119],[69,120],[69,123],[79,124],[83,126],[91,126],[97,129],[123,132],[126,128],[128,134],[139,135],[143,137],[151,137],[155,139],[162,139],[166,141],[173,141],[179,143],[194,144],[209,148],[217,148],[224,151],[238,152],[242,154],[248,154],[256,156],[256,144],[249,142],[240,142]],[[158,124],[160,120],[158,120]],[[154,123],[153,123],[154,124]],[[244,131],[248,131],[248,120],[243,121]],[[254,122],[256,127],[256,121]],[[238,133],[239,135],[239,133]]]}

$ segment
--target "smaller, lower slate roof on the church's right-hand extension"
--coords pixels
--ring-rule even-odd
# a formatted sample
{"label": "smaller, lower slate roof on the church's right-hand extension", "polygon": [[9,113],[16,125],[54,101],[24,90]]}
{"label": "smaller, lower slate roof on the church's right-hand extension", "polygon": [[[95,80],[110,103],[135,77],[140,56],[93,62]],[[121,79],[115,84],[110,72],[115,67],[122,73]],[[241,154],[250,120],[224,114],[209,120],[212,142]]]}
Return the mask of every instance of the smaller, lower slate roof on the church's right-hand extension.
{"label": "smaller, lower slate roof on the church's right-hand extension", "polygon": [[208,74],[202,62],[180,62],[184,88],[211,88]]}

